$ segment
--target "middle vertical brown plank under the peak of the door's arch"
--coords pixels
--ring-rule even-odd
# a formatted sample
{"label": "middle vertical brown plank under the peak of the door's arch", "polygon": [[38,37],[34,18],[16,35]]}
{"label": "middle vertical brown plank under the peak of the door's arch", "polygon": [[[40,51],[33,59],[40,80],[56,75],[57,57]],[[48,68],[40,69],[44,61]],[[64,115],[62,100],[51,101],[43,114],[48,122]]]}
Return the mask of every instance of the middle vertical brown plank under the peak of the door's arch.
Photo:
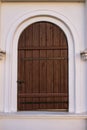
{"label": "middle vertical brown plank under the peak of the door's arch", "polygon": [[[40,47],[46,47],[46,23],[40,23]],[[40,58],[46,58],[46,50],[40,50]],[[47,61],[40,60],[40,93],[46,93],[47,91]],[[46,102],[46,97],[40,98],[40,102]],[[47,104],[40,104],[40,109],[46,109]]]}

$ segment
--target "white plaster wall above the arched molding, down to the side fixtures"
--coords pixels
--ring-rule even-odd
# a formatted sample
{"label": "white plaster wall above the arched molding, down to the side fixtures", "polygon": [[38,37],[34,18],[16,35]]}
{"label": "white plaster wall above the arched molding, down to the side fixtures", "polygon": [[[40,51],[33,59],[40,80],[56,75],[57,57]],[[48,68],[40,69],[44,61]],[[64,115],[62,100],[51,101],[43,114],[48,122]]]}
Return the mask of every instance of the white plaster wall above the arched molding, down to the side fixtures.
{"label": "white plaster wall above the arched molding, down to the side fixtures", "polygon": [[2,4],[2,48],[5,48],[5,39],[12,24],[24,14],[34,10],[53,10],[66,17],[75,27],[84,48],[84,3],[3,3]]}

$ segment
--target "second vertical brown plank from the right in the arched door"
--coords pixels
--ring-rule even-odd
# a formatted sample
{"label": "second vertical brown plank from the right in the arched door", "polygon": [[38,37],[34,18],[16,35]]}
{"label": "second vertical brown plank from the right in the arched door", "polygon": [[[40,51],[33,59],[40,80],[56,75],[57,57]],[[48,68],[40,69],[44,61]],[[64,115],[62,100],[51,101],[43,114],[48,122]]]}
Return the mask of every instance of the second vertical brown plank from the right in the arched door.
{"label": "second vertical brown plank from the right in the arched door", "polygon": [[[53,45],[60,48],[60,28],[58,26],[53,27],[54,32],[54,39],[53,39]],[[54,50],[54,58],[60,57],[60,49]],[[61,87],[61,78],[60,78],[60,60],[54,60],[54,92],[60,93],[60,87]],[[55,97],[54,102],[60,102],[60,97]],[[56,103],[54,105],[55,109],[60,109],[61,104]]]}

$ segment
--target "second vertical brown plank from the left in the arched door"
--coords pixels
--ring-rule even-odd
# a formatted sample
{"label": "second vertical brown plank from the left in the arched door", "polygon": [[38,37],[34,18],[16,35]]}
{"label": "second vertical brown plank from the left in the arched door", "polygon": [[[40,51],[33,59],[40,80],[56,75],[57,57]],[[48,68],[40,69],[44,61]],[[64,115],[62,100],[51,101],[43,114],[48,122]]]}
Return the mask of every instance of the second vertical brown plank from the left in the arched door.
{"label": "second vertical brown plank from the left in the arched door", "polygon": [[[25,42],[26,42],[26,46],[25,48],[30,48],[33,46],[33,26],[29,26],[27,27],[26,31],[25,31]],[[32,50],[26,50],[26,56],[25,58],[32,58],[33,56],[33,52]],[[32,93],[32,87],[33,87],[33,62],[32,61],[28,61],[25,60],[25,77],[26,77],[26,90],[25,90],[25,94],[28,93]],[[26,102],[32,102],[32,98],[26,98]],[[25,110],[32,110],[32,104],[25,104]]]}

